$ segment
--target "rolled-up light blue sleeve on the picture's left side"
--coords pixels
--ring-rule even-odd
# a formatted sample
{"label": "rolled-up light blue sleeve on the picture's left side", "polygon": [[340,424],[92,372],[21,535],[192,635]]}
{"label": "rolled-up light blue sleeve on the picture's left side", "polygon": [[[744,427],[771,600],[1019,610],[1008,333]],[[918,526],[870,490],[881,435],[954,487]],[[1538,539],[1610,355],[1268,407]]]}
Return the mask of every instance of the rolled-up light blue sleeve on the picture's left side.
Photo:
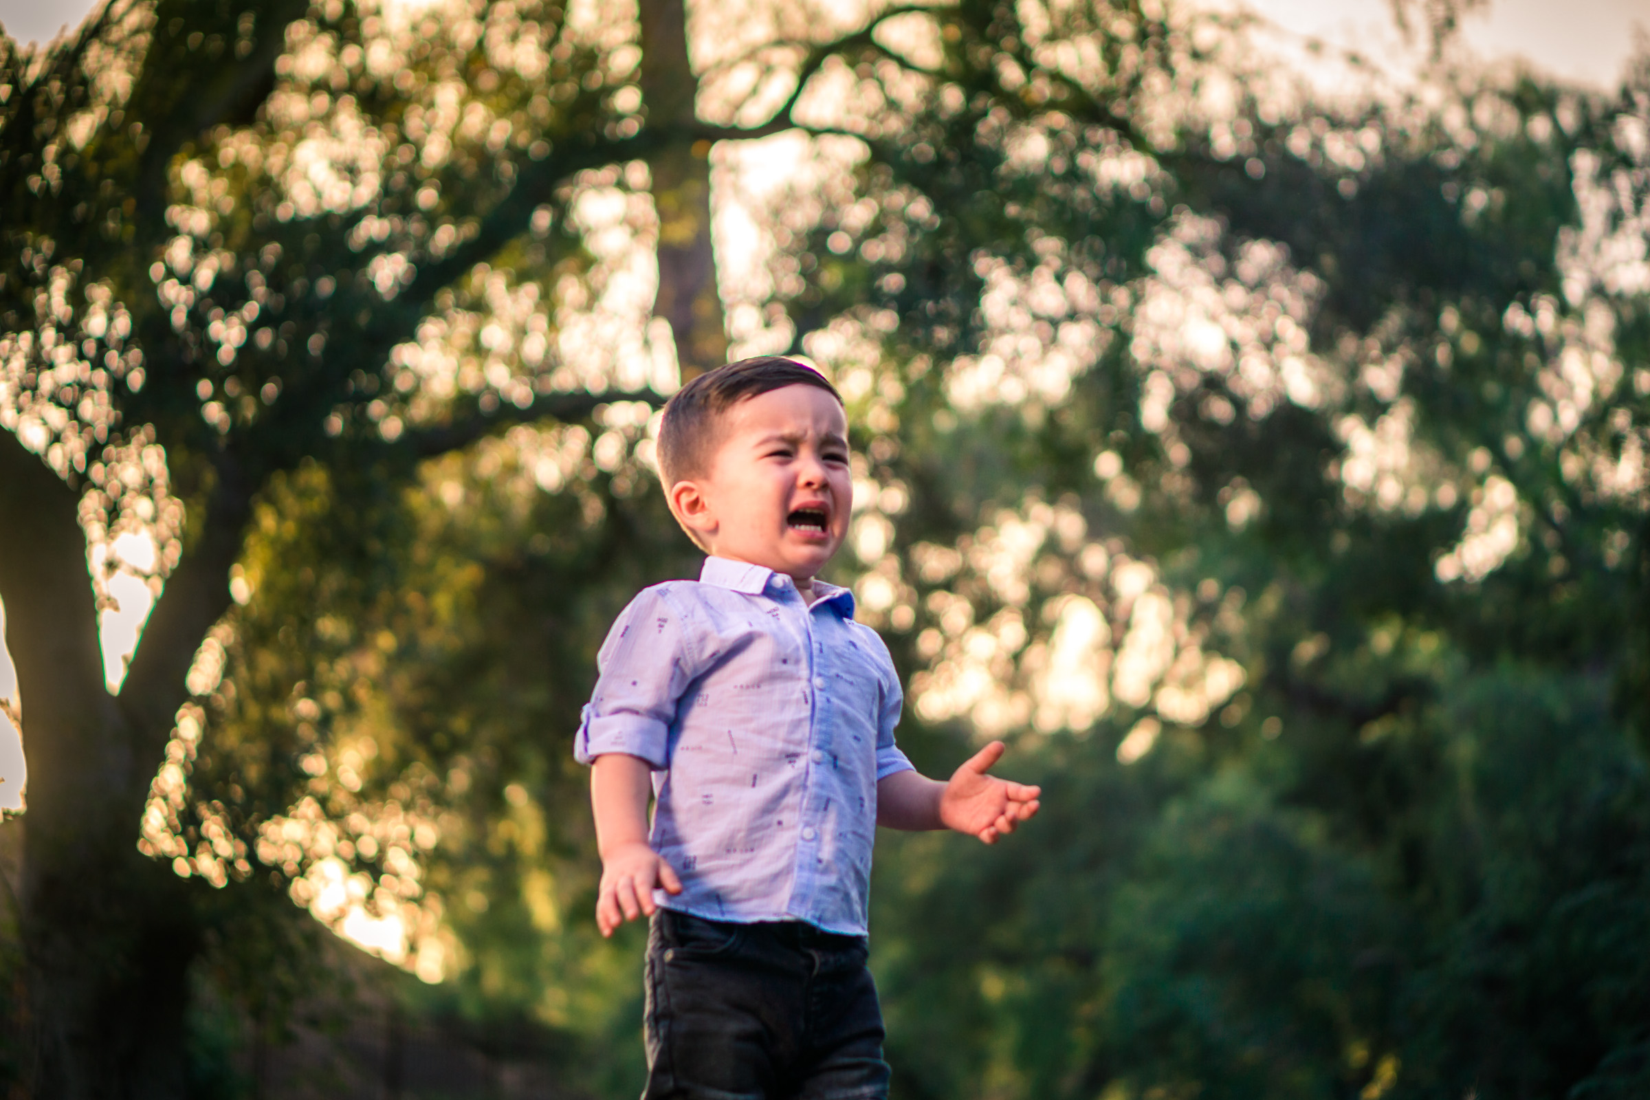
{"label": "rolled-up light blue sleeve on the picture's left side", "polygon": [[584,706],[573,755],[591,764],[609,752],[670,765],[670,726],[693,681],[698,655],[691,623],[660,589],[624,609],[596,656],[596,691]]}

